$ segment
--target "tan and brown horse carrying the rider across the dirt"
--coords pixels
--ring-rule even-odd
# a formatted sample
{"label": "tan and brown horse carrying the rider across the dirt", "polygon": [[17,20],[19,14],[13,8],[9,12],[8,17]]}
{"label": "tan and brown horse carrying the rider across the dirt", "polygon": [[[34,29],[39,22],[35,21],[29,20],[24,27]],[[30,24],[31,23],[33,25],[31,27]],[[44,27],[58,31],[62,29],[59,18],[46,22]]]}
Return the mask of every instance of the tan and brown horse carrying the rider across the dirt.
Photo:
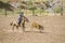
{"label": "tan and brown horse carrying the rider across the dirt", "polygon": [[18,27],[22,27],[23,30],[25,30],[25,22],[29,22],[27,17],[23,17],[20,25],[15,20],[10,23],[10,25],[13,27],[12,30],[14,30],[14,27],[16,27],[16,29],[18,29]]}

